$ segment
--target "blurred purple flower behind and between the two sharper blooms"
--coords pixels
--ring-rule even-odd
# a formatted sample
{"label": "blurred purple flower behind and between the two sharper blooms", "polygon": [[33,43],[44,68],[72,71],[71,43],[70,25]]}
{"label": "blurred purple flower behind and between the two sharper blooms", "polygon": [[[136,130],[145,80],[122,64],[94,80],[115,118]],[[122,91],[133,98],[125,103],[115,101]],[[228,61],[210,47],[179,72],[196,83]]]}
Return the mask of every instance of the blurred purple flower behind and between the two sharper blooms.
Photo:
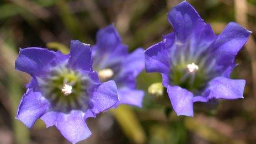
{"label": "blurred purple flower behind and between the two sharper blooms", "polygon": [[97,33],[97,43],[92,47],[93,68],[102,82],[113,79],[118,86],[119,104],[142,106],[144,93],[136,90],[136,77],[144,69],[143,49],[129,54],[127,46],[113,25]]}

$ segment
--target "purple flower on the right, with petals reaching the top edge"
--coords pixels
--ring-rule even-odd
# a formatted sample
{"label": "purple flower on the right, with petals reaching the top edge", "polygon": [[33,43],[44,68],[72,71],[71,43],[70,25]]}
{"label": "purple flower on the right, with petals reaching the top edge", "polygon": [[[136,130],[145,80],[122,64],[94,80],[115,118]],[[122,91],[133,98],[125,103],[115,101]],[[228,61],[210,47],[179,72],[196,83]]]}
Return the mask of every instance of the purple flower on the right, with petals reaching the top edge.
{"label": "purple flower on the right, with petals reaching the top edge", "polygon": [[169,11],[168,20],[174,32],[145,51],[145,67],[162,74],[177,115],[193,116],[194,102],[243,98],[246,82],[230,74],[251,32],[231,22],[215,35],[186,1]]}

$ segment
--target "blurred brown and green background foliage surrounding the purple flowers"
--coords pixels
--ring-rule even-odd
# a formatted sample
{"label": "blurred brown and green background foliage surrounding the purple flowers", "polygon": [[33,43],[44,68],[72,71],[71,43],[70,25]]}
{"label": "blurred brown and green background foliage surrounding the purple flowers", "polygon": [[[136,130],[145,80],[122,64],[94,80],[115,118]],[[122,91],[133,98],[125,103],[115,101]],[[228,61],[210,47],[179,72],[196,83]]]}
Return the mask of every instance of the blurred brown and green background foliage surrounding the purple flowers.
{"label": "blurred brown and green background foliage surrounding the purple flowers", "polygon": [[[14,70],[19,47],[65,49],[70,39],[95,44],[97,30],[114,23],[124,44],[147,49],[172,27],[167,13],[179,0],[1,0],[0,1],[0,143],[69,143],[55,127],[38,121],[29,130],[14,119],[29,76]],[[256,1],[191,0],[216,34],[235,21],[253,31],[236,59],[232,77],[246,79],[244,99],[218,105],[196,104],[194,118],[176,116],[166,97],[146,94],[143,108],[120,106],[88,119],[92,136],[79,143],[255,143]],[[142,72],[137,87],[161,82]]]}

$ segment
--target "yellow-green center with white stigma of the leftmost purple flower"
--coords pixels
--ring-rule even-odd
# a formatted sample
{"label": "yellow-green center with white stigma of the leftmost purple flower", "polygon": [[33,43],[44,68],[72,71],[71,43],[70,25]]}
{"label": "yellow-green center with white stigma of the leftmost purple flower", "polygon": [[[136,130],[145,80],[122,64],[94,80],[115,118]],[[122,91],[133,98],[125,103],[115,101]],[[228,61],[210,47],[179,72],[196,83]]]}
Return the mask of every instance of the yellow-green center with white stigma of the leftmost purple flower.
{"label": "yellow-green center with white stigma of the leftmost purple flower", "polygon": [[52,68],[49,76],[38,78],[44,97],[49,99],[52,108],[68,112],[72,109],[87,109],[88,76],[63,66]]}

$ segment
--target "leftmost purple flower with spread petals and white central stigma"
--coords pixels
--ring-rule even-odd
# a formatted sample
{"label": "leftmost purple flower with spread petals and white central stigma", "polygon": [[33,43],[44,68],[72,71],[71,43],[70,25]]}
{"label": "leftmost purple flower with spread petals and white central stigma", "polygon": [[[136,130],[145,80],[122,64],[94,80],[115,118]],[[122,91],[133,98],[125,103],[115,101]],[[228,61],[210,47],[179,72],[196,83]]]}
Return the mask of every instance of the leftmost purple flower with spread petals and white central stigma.
{"label": "leftmost purple flower with spread petals and white central stigma", "polygon": [[91,135],[86,119],[118,102],[114,81],[101,83],[92,70],[90,46],[71,40],[70,54],[39,47],[20,49],[15,68],[31,75],[20,102],[17,119],[27,127],[42,119],[55,125],[68,141]]}

